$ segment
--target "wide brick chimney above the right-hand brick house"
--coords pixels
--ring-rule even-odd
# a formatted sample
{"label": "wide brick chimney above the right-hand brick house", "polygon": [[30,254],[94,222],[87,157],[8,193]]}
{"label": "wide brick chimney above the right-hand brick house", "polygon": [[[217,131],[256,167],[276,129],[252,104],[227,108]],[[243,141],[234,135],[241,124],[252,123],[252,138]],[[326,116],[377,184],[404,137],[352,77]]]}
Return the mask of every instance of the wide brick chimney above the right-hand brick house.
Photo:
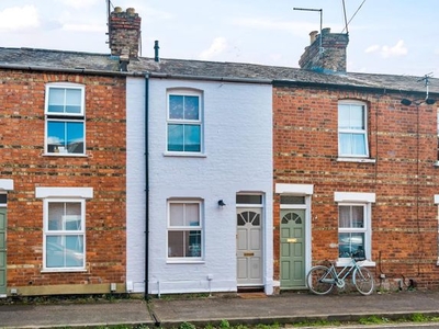
{"label": "wide brick chimney above the right-hand brick house", "polygon": [[346,73],[348,34],[330,33],[330,29],[323,29],[322,35],[313,31],[309,38],[311,45],[299,60],[301,68],[325,73]]}

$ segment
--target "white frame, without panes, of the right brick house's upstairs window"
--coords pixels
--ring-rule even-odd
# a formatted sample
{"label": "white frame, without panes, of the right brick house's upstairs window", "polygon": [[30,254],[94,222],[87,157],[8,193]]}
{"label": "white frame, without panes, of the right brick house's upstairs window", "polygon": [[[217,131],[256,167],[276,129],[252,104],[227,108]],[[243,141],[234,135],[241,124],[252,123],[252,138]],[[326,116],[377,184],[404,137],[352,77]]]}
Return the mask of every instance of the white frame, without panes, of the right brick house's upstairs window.
{"label": "white frame, without panes, of the right brick house's upstairs window", "polygon": [[[364,129],[340,128],[340,109],[339,109],[339,105],[361,106],[363,109]],[[340,138],[341,134],[363,135],[365,154],[363,154],[363,155],[342,154],[341,152],[341,138]],[[340,158],[360,158],[360,159],[369,158],[368,106],[367,106],[367,104],[364,102],[353,101],[353,100],[342,100],[342,101],[338,102],[338,107],[337,107],[337,139],[338,139],[338,156]]]}

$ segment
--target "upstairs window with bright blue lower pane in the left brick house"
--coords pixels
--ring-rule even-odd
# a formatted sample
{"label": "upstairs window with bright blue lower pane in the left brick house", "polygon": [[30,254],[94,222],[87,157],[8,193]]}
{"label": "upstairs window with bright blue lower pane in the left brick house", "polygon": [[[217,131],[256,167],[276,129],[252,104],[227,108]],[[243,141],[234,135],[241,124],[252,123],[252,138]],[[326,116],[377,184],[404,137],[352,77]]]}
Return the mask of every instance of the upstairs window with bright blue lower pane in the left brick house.
{"label": "upstairs window with bright blue lower pane in the left brick house", "polygon": [[50,155],[85,154],[85,87],[46,86],[45,152]]}

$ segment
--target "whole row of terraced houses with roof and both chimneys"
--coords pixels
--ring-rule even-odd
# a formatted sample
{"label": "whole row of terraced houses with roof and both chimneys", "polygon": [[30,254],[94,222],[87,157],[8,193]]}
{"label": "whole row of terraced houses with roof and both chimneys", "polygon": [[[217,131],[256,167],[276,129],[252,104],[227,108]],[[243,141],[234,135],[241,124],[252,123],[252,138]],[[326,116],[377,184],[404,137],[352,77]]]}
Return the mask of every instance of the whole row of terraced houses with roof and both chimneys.
{"label": "whole row of terraced houses with roof and both chimneys", "polygon": [[0,48],[1,296],[274,294],[352,253],[439,287],[438,79],[347,72],[327,29],[286,68],[109,22],[109,54]]}

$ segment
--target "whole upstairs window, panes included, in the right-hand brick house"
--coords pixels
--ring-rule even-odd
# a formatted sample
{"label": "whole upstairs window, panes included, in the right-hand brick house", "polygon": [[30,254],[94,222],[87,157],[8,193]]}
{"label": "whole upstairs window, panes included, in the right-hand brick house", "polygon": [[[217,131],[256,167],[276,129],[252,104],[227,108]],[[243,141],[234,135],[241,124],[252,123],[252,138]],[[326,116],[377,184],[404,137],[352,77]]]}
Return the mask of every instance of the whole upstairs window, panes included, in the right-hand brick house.
{"label": "whole upstairs window, panes included, in the right-hand brick house", "polygon": [[369,157],[367,107],[359,102],[338,104],[338,155]]}

